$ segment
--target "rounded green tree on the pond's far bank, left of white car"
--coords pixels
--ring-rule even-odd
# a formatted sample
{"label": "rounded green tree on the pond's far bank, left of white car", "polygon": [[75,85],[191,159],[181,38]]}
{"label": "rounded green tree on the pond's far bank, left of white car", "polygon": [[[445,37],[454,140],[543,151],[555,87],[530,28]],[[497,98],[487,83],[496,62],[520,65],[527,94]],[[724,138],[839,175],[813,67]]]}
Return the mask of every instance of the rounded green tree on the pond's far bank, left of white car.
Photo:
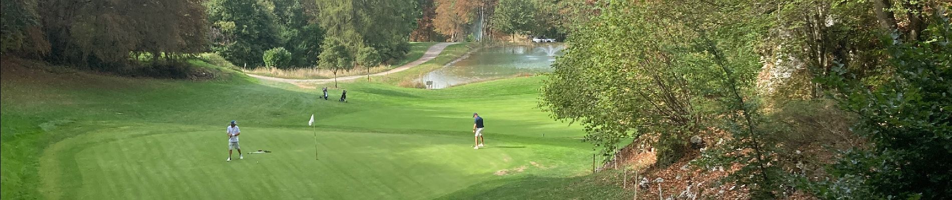
{"label": "rounded green tree on the pond's far bank, left of white car", "polygon": [[534,2],[529,0],[500,0],[492,17],[494,28],[512,34],[512,41],[516,41],[516,34],[526,34],[536,28],[536,9]]}

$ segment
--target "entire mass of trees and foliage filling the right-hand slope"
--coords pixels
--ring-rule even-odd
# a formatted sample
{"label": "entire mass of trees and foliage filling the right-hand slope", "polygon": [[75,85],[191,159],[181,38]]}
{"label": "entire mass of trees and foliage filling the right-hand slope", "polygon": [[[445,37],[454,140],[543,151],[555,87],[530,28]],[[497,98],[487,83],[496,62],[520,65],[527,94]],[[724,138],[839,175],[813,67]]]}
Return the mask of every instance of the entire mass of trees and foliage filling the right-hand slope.
{"label": "entire mass of trees and foliage filling the right-hand slope", "polygon": [[[695,155],[700,167],[734,166],[725,180],[749,186],[753,199],[792,189],[821,199],[942,199],[952,188],[952,114],[942,109],[952,100],[941,82],[952,55],[948,9],[882,0],[567,9],[594,14],[566,20],[581,24],[569,27],[540,105],[585,126],[585,140],[605,155],[636,139],[657,147],[659,167]],[[843,127],[848,139],[803,130],[837,134],[804,126],[849,115],[783,117],[787,103],[810,100],[857,115]],[[700,152],[686,145],[692,135],[724,140]]]}

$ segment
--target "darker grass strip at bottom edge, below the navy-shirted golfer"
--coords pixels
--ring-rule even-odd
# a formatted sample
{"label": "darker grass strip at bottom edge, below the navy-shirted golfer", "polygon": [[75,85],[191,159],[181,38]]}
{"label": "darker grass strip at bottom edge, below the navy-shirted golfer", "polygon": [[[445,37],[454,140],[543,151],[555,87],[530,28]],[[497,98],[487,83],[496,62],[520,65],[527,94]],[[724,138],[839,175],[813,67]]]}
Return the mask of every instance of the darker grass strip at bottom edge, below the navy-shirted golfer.
{"label": "darker grass strip at bottom edge, below the navy-shirted golfer", "polygon": [[596,173],[576,177],[526,175],[506,177],[472,185],[436,199],[631,199],[632,191],[621,188],[621,178]]}

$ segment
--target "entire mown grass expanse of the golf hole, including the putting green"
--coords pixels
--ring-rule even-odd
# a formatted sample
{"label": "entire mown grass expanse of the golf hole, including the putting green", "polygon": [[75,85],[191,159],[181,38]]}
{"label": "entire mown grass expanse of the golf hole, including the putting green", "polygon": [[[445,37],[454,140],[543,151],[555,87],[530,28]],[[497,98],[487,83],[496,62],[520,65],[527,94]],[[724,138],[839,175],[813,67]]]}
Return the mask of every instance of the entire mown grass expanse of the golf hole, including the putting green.
{"label": "entire mown grass expanse of the golf hole, including the putting green", "polygon": [[[346,83],[342,103],[242,76],[27,74],[4,74],[3,134],[43,127],[35,143],[50,145],[25,169],[36,168],[47,199],[433,199],[590,167],[581,129],[535,108],[542,77],[433,91]],[[473,112],[486,118],[480,150],[471,147]],[[225,162],[231,119],[244,152],[273,153]],[[6,157],[21,150],[5,145]]]}

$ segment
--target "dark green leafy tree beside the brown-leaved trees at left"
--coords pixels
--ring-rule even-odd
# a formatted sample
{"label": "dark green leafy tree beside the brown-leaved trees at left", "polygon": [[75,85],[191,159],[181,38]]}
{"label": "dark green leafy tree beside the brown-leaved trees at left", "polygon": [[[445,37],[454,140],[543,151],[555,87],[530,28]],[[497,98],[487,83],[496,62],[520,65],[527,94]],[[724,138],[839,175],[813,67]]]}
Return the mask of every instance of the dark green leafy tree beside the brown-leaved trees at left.
{"label": "dark green leafy tree beside the brown-leaved trees at left", "polygon": [[280,45],[275,15],[258,1],[208,0],[205,5],[212,32],[218,33],[212,34],[211,49],[229,62],[260,65],[262,61],[255,58]]}

